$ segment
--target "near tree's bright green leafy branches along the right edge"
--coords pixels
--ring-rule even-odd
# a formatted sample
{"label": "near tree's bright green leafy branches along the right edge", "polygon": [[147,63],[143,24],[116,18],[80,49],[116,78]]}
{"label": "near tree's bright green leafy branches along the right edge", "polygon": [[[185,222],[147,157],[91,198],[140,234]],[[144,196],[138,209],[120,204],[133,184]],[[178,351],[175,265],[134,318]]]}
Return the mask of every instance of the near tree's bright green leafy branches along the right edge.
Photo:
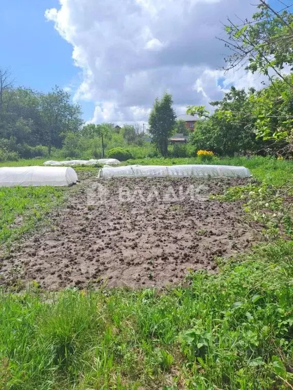
{"label": "near tree's bright green leafy branches along the right edge", "polygon": [[[293,15],[284,4],[280,11],[269,2],[259,0],[252,20],[240,24],[228,19],[225,42],[232,54],[225,58],[226,70],[244,66],[246,70],[262,73],[270,81],[259,92],[250,93],[245,106],[219,107],[217,115],[227,123],[251,122],[257,138],[292,145],[293,141],[293,76],[284,75],[285,66],[293,70]],[[191,115],[210,117],[203,106],[189,107]],[[287,145],[287,144],[286,144]],[[288,145],[287,145],[288,146]]]}

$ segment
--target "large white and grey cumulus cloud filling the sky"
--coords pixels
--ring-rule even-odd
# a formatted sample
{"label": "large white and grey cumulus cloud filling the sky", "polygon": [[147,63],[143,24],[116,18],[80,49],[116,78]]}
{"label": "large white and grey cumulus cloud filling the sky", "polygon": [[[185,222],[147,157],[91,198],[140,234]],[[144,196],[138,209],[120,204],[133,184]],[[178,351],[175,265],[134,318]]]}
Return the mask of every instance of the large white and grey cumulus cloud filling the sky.
{"label": "large white and grey cumulus cloud filling the sky", "polygon": [[225,48],[215,38],[227,15],[251,16],[250,0],[59,1],[45,16],[73,47],[75,99],[95,102],[92,122],[145,121],[164,91],[181,114],[220,99],[230,83],[254,82],[243,71],[219,85]]}

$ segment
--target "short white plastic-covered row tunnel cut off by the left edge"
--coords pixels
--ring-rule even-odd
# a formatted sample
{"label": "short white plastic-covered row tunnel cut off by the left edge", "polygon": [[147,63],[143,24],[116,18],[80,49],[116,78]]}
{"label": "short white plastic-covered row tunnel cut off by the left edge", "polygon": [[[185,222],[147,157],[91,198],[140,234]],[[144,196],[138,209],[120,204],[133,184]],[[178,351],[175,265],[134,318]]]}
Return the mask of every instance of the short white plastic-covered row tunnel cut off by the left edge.
{"label": "short white plastic-covered row tunnel cut off by the left edge", "polygon": [[78,180],[74,169],[70,167],[13,167],[0,168],[0,187],[64,186]]}

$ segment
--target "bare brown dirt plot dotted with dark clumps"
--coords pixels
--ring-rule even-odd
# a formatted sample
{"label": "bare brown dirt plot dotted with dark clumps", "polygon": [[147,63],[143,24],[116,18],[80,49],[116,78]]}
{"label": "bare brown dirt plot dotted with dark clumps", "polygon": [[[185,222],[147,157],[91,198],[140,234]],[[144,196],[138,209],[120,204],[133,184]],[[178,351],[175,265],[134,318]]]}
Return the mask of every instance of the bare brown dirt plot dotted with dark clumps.
{"label": "bare brown dirt plot dotted with dark clumps", "polygon": [[[220,203],[208,195],[247,181],[104,179],[99,181],[104,192],[98,192],[103,197],[95,198],[97,179],[92,179],[52,217],[54,231],[35,234],[0,261],[0,284],[35,280],[50,290],[89,282],[163,287],[180,283],[188,270],[215,272],[215,256],[243,251],[255,237],[241,203]],[[201,186],[195,199],[175,200],[190,185],[195,193]]]}

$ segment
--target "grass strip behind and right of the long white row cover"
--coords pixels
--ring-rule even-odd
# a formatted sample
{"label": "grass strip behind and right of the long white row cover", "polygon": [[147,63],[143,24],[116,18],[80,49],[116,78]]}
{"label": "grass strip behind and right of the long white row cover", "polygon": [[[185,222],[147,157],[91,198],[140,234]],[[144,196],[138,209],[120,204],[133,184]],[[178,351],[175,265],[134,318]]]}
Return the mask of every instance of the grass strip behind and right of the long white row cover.
{"label": "grass strip behind and right of the long white row cover", "polygon": [[293,161],[277,160],[273,157],[255,156],[247,159],[245,157],[215,158],[212,161],[203,163],[200,159],[194,158],[144,158],[128,160],[127,165],[180,165],[180,164],[209,164],[209,165],[235,165],[243,166],[250,170],[252,175],[260,180],[266,180],[269,184],[282,185],[286,180],[293,178]]}

